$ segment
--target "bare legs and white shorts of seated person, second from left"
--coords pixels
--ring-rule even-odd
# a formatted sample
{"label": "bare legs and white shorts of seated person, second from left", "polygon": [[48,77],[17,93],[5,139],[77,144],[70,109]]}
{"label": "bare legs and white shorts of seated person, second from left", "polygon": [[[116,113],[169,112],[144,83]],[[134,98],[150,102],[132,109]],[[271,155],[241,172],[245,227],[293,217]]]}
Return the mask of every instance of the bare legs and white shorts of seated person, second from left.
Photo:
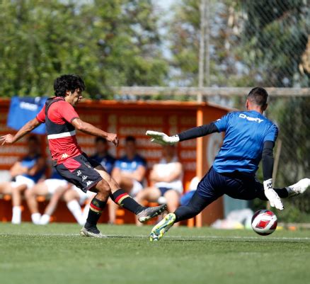
{"label": "bare legs and white shorts of seated person, second from left", "polygon": [[[59,198],[69,187],[71,187],[71,184],[62,178],[53,167],[50,178],[35,184],[33,188],[28,188],[25,191],[25,199],[27,200],[33,224],[45,225],[50,222],[50,216],[56,209]],[[45,212],[42,216],[38,208],[37,197],[39,195],[51,196],[50,203],[45,208]]]}

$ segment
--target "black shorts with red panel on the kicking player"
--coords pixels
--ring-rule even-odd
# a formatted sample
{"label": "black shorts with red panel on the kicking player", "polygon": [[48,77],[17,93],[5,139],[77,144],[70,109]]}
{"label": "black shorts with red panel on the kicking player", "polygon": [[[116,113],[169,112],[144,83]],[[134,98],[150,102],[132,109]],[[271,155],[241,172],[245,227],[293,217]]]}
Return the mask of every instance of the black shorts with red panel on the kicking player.
{"label": "black shorts with red panel on the kicking player", "polygon": [[67,159],[62,164],[56,165],[55,169],[69,183],[73,183],[74,186],[81,188],[86,193],[88,189],[96,186],[102,180],[98,171],[93,169],[96,166],[100,166],[100,164],[83,153],[74,158]]}

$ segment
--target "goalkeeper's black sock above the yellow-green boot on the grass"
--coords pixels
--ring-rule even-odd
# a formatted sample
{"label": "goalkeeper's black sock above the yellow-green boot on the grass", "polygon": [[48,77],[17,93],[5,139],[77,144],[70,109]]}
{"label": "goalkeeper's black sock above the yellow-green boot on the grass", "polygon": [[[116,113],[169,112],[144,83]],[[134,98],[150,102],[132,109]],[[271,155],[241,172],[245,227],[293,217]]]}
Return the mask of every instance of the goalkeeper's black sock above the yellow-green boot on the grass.
{"label": "goalkeeper's black sock above the yellow-green boot on the grass", "polygon": [[[213,200],[212,200],[213,201]],[[212,202],[211,201],[211,202]],[[180,222],[187,220],[198,215],[207,205],[211,202],[202,198],[197,192],[190,199],[190,202],[186,206],[180,206],[174,214],[176,215],[176,221]]]}

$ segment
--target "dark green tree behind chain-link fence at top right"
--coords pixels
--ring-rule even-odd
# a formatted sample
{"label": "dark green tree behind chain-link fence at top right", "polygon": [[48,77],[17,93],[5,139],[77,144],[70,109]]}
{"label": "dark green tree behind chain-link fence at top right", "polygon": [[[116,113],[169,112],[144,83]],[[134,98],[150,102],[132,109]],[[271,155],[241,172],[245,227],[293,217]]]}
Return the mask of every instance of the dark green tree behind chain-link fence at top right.
{"label": "dark green tree behind chain-link fence at top right", "polygon": [[310,28],[307,1],[244,0],[239,8],[246,13],[240,54],[260,84],[309,86],[309,69],[301,68]]}

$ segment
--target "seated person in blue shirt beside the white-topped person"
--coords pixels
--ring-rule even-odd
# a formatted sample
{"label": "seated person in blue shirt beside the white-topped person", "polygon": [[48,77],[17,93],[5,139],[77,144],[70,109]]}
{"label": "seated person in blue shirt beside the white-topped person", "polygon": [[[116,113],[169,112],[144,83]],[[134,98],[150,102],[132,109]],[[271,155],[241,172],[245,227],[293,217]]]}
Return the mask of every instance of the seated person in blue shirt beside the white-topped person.
{"label": "seated person in blue shirt beside the white-topped person", "polygon": [[[144,188],[144,178],[147,173],[147,161],[137,154],[136,139],[127,136],[125,139],[125,156],[115,161],[112,177],[120,187],[135,197]],[[115,223],[117,205],[109,204],[109,222]]]}

